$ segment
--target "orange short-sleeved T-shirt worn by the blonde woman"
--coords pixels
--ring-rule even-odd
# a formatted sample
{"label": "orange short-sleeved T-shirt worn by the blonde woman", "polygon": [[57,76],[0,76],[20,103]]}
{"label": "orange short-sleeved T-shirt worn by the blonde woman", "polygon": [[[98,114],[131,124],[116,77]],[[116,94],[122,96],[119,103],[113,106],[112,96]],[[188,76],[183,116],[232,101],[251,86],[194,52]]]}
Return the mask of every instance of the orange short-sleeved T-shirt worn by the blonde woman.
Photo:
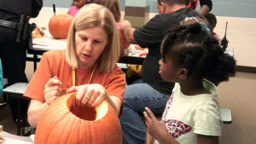
{"label": "orange short-sleeved T-shirt worn by the blonde woman", "polygon": [[[61,81],[62,89],[68,89],[73,86],[72,67],[68,65],[65,55],[66,50],[52,50],[44,53],[24,96],[45,102],[44,85],[49,81],[49,78],[54,76],[57,76]],[[90,69],[76,68],[75,85],[88,84],[92,71],[93,67]],[[115,66],[112,72],[104,73],[99,73],[96,68],[90,84],[102,84],[107,89],[108,95],[117,96],[123,101],[125,78],[118,66]]]}

